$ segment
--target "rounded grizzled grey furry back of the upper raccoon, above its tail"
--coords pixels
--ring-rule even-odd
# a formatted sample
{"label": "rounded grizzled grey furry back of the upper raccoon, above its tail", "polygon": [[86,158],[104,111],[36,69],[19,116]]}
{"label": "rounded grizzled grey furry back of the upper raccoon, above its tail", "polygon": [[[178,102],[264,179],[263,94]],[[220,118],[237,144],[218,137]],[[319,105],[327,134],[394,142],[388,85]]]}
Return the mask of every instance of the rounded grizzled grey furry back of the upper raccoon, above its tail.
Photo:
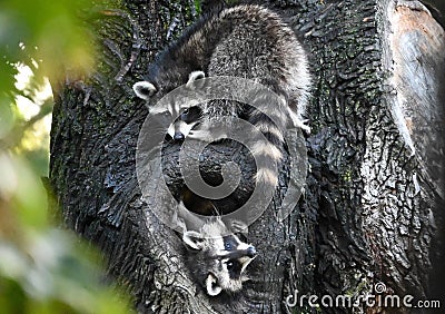
{"label": "rounded grizzled grey furry back of the upper raccoon, above its tail", "polygon": [[211,52],[208,76],[235,76],[265,85],[284,96],[300,118],[310,76],[306,53],[290,27],[269,9],[248,4],[225,9],[209,21],[207,33],[215,31],[220,40]]}

